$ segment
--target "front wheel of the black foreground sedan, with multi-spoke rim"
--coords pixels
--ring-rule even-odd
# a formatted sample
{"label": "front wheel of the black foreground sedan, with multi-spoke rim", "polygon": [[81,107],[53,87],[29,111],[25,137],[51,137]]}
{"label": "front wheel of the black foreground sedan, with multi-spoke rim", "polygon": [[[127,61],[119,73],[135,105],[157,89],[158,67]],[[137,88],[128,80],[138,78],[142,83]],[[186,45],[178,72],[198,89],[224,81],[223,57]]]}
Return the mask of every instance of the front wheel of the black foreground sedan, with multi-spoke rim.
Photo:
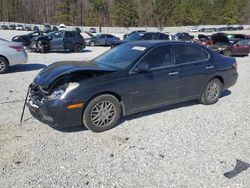
{"label": "front wheel of the black foreground sedan, with multi-spoke rim", "polygon": [[115,127],[121,117],[121,105],[112,95],[100,95],[90,101],[83,113],[83,124],[93,132]]}

